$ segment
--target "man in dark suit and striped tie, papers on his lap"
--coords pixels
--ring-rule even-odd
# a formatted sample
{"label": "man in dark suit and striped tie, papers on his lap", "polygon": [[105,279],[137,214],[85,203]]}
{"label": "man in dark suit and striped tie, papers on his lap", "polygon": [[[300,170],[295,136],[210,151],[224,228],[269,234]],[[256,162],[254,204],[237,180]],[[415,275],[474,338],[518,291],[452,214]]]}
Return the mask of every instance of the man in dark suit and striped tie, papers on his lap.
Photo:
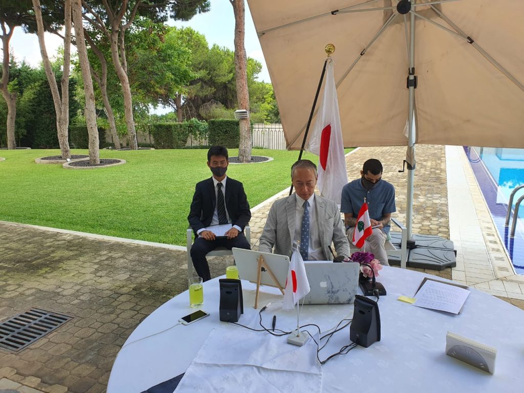
{"label": "man in dark suit and striped tie, papers on his lap", "polygon": [[[216,247],[251,248],[244,236],[244,227],[251,219],[244,186],[226,177],[229,158],[223,146],[212,146],[208,151],[208,167],[213,176],[196,183],[193,202],[188,216],[189,225],[195,233],[191,247],[191,259],[203,281],[211,279],[205,255]],[[216,237],[206,229],[213,225],[232,224],[224,237]]]}

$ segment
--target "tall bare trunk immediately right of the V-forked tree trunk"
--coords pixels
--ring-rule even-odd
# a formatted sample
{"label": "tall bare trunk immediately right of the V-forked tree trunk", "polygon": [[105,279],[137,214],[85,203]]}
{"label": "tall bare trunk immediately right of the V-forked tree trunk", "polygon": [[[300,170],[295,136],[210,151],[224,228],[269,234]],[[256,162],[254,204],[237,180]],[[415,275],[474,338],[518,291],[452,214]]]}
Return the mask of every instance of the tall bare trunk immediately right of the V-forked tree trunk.
{"label": "tall bare trunk immediately right of the V-forked tree trunk", "polygon": [[75,37],[77,37],[78,57],[80,59],[80,68],[82,69],[82,79],[84,81],[84,114],[85,123],[88,126],[89,135],[89,164],[98,165],[100,163],[100,141],[98,135],[98,127],[96,126],[95,93],[93,91],[93,80],[91,79],[88,49],[85,46],[84,28],[82,26],[82,0],[74,0],[73,2],[73,20],[74,34]]}

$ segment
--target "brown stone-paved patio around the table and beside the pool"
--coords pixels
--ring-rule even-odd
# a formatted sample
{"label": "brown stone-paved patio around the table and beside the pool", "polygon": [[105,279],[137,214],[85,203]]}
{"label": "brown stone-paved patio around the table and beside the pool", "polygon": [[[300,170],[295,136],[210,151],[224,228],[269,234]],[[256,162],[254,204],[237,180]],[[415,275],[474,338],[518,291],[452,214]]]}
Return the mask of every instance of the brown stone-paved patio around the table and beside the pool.
{"label": "brown stone-paved patio around the table and beside the pool", "polygon": [[[346,157],[350,180],[359,177],[365,159],[378,157],[383,161],[384,179],[394,183],[397,190],[396,217],[402,222],[407,174],[398,170],[404,154],[405,148],[361,148]],[[417,149],[414,232],[443,237],[457,233],[456,228],[450,231],[449,227],[445,154],[443,146]],[[272,201],[285,195],[287,190],[254,207],[250,222],[253,243],[261,233]],[[484,230],[487,219],[482,215],[482,206],[475,208],[481,209],[476,214],[484,220],[483,225],[476,225]],[[0,321],[30,307],[74,316],[17,354],[0,350],[0,392],[105,391],[114,358],[127,336],[160,304],[187,288],[187,256],[180,247],[174,248],[179,249],[0,222]],[[461,252],[462,248],[454,271],[426,272],[461,279],[455,277],[458,275],[467,282],[473,276],[471,269],[466,269],[467,258]],[[229,263],[228,257],[212,258],[212,276],[222,275]],[[493,279],[472,283],[488,292],[497,287],[494,294],[524,309],[524,301],[518,298],[518,293],[524,296],[519,278],[506,277],[501,281],[498,276],[490,277]],[[512,285],[517,282],[517,287],[506,281]],[[514,295],[508,298],[510,293]]]}

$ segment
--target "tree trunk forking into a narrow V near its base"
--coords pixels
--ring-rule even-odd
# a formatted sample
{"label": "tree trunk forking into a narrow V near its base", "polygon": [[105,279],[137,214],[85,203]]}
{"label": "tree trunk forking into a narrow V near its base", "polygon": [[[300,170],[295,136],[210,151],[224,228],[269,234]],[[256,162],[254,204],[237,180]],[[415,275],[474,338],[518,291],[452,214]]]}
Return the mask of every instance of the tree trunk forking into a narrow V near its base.
{"label": "tree trunk forking into a narrow V near its base", "polygon": [[58,92],[58,85],[54,72],[51,68],[49,56],[47,55],[46,42],[43,37],[43,21],[42,11],[40,8],[40,0],[32,0],[33,8],[35,9],[35,17],[37,22],[37,36],[40,43],[40,53],[42,55],[42,62],[46,70],[47,80],[53,96],[54,111],[57,115],[57,134],[58,143],[60,144],[60,151],[62,158],[71,158],[71,150],[69,149],[68,128],[69,128],[69,68],[70,68],[70,50],[71,50],[71,0],[64,2],[64,63],[61,80],[62,97]]}

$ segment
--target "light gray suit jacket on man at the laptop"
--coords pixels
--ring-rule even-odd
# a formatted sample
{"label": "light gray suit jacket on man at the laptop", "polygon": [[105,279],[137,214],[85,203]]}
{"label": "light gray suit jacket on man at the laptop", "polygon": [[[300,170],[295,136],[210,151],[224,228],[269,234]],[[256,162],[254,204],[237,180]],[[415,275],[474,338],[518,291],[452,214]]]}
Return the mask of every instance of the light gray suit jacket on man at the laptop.
{"label": "light gray suit jacket on man at the laptop", "polygon": [[[293,193],[287,198],[273,203],[267,217],[264,231],[260,236],[258,250],[271,253],[275,247],[275,254],[291,256],[292,242],[295,231],[296,195]],[[344,233],[344,225],[336,203],[315,194],[315,205],[318,216],[320,244],[326,260],[332,260],[329,250],[331,242],[335,245],[337,255],[350,256],[350,243]]]}

